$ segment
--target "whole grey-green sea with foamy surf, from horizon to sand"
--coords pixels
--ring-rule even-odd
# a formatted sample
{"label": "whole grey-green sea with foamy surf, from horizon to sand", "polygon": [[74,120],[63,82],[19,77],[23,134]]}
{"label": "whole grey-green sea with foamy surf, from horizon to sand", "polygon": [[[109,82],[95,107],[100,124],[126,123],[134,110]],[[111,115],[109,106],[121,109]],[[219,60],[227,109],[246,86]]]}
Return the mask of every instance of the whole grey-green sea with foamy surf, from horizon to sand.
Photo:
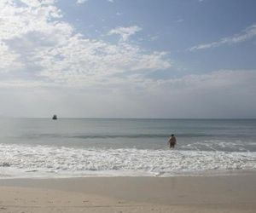
{"label": "whole grey-green sea with foamy surf, from horizon to sand", "polygon": [[0,178],[243,170],[256,170],[255,119],[0,119]]}

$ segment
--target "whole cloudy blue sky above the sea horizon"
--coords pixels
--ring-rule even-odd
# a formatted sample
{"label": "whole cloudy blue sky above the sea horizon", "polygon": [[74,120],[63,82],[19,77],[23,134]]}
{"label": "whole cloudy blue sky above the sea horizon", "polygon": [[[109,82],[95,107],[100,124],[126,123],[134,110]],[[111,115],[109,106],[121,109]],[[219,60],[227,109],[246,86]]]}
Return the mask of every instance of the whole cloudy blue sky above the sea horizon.
{"label": "whole cloudy blue sky above the sea horizon", "polygon": [[256,118],[254,0],[1,0],[0,118]]}

